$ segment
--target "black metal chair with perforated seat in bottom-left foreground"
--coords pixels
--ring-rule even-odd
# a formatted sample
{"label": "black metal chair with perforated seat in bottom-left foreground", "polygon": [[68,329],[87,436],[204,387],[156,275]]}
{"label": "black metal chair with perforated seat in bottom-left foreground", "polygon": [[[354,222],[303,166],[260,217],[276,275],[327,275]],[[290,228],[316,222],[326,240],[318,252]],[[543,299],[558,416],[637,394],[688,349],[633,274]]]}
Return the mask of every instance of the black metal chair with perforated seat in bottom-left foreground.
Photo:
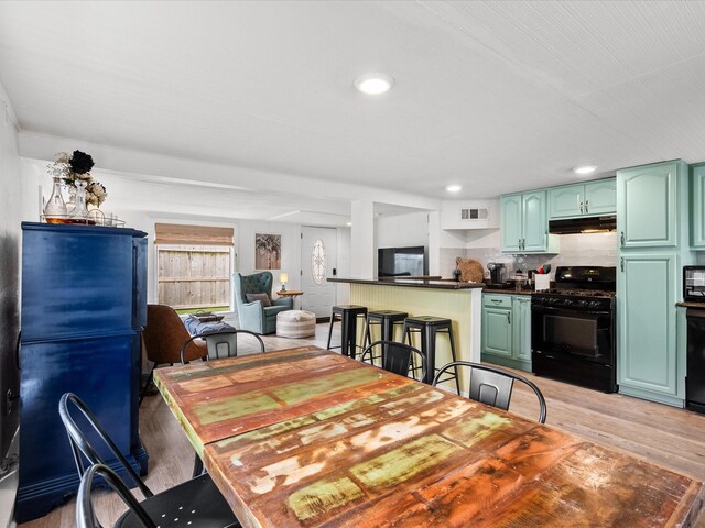
{"label": "black metal chair with perforated seat in bottom-left foreground", "polygon": [[[124,481],[122,481],[115,472],[106,468],[106,463],[98,454],[98,451],[88,441],[84,431],[82,431],[82,429],[76,425],[74,417],[68,410],[69,404],[73,404],[80,411],[95,433],[97,433],[100,441],[108,447],[112,455],[120,462],[124,472],[144,495],[144,501],[138,503],[134,496],[132,496],[132,494],[127,490]],[[184,515],[191,515],[192,512],[195,512],[193,515],[197,516],[194,517],[194,520],[197,519],[197,522],[195,524],[196,526],[207,526],[213,528],[236,528],[240,526],[238,519],[230,509],[230,506],[225,498],[223,498],[223,495],[215,486],[208,474],[203,474],[196,479],[186,481],[183,484],[178,484],[177,486],[154,494],[147,484],[144,484],[142,479],[139,477],[134,469],[126,460],[106,430],[98,422],[96,416],[78,396],[72,393],[64,394],[58,404],[58,414],[61,415],[64,427],[66,428],[70,449],[74,453],[74,461],[76,462],[76,469],[78,470],[78,475],[82,477],[79,506],[76,513],[76,519],[79,527],[100,526],[99,524],[96,524],[97,521],[93,514],[89,497],[86,499],[87,502],[84,501],[86,495],[90,495],[93,476],[96,473],[106,477],[106,482],[116,490],[120,495],[120,498],[122,498],[122,501],[124,501],[130,507],[130,509],[120,517],[118,522],[115,525],[116,527],[156,527],[158,522],[162,528],[176,526],[177,521],[174,519],[183,518]],[[84,457],[90,464],[93,464],[90,470],[86,470]],[[98,464],[97,469],[96,464]],[[112,473],[112,475],[107,473],[102,468],[100,468],[100,465]],[[132,499],[129,499],[128,495],[132,497]],[[135,506],[139,506],[139,509],[135,508]],[[147,519],[144,518],[144,515],[147,515]],[[184,525],[185,522],[178,524],[178,526]]]}

